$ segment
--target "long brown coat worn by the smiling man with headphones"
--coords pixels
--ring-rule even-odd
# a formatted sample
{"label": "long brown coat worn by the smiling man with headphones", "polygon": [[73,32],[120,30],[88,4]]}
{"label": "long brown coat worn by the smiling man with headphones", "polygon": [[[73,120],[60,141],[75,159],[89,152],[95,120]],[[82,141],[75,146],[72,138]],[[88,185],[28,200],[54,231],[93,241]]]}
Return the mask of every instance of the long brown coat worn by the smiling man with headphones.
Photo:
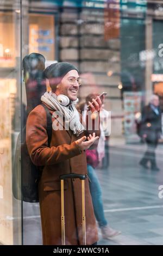
{"label": "long brown coat worn by the smiling man with headphones", "polygon": [[[49,110],[52,114],[52,109]],[[75,142],[82,136],[84,132],[77,137],[71,130],[52,129],[51,147],[48,148],[45,109],[39,105],[28,116],[28,151],[34,164],[44,166],[39,184],[43,245],[61,245],[59,176],[71,172],[87,174],[85,152]],[[64,189],[66,245],[82,245],[81,181],[67,179]],[[88,179],[85,180],[85,216],[86,244],[92,245],[97,242],[98,234]]]}

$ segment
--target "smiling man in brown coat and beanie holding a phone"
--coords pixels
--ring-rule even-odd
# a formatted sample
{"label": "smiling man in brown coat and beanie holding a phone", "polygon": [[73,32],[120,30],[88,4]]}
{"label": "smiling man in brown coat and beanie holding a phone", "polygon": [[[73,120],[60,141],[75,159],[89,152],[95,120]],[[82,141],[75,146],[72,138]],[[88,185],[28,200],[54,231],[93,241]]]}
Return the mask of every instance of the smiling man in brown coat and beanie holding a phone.
{"label": "smiling man in brown coat and beanie holding a phone", "polygon": [[[46,92],[41,101],[52,114],[53,130],[51,147],[48,148],[45,109],[39,105],[30,112],[27,120],[27,147],[34,164],[43,166],[39,182],[39,201],[42,222],[43,245],[61,245],[61,174],[87,174],[85,150],[99,138],[93,131],[84,130],[79,114],[74,107],[80,86],[78,69],[70,63],[55,63],[45,69],[52,92]],[[65,99],[64,99],[65,98]],[[68,103],[68,101],[70,101]],[[68,105],[61,105],[67,101]],[[91,112],[98,114],[101,100],[90,102]],[[64,115],[65,123],[61,127],[59,111]],[[70,119],[69,130],[65,129],[67,116]],[[96,119],[93,120],[95,125]],[[60,129],[57,129],[57,126]],[[85,141],[87,138],[87,141]],[[67,179],[64,183],[65,194],[65,234],[66,245],[82,245],[82,188],[79,179]],[[85,180],[85,216],[86,244],[95,244],[98,240],[96,220],[93,213],[89,190],[89,180]]]}

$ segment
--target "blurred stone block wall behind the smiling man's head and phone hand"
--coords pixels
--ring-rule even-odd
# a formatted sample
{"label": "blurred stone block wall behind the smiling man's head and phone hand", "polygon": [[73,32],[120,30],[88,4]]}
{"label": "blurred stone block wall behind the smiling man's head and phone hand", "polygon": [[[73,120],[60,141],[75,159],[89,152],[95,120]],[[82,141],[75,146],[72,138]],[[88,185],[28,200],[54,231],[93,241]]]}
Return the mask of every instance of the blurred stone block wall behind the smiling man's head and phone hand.
{"label": "blurred stone block wall behind the smiling man's head and phone hand", "polygon": [[[60,61],[76,65],[83,75],[80,99],[92,92],[107,92],[105,108],[112,113],[111,135],[122,135],[120,39],[104,40],[104,11],[63,10],[59,29]],[[108,71],[113,74],[109,77]],[[114,118],[115,117],[115,118]]]}

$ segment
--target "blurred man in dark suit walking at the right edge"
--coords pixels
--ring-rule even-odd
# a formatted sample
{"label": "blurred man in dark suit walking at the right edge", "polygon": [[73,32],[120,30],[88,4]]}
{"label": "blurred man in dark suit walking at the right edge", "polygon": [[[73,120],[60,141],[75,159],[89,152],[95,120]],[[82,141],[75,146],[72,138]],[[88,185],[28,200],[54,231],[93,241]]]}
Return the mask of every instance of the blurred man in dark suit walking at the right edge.
{"label": "blurred man in dark suit walking at the right edge", "polygon": [[148,169],[147,163],[151,162],[152,170],[159,170],[155,160],[155,149],[161,136],[161,111],[159,107],[159,97],[152,95],[149,105],[142,111],[140,135],[147,143],[147,150],[140,161],[143,168]]}

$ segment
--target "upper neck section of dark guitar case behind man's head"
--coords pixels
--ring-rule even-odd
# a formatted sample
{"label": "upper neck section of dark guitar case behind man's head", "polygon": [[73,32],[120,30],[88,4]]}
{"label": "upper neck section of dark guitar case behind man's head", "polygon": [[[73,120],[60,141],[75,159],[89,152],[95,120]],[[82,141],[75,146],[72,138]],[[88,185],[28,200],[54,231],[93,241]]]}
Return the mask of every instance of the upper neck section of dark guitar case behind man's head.
{"label": "upper neck section of dark guitar case behind man's head", "polygon": [[23,58],[23,80],[26,84],[27,115],[41,104],[41,96],[46,92],[43,75],[45,57],[40,53],[30,53]]}

